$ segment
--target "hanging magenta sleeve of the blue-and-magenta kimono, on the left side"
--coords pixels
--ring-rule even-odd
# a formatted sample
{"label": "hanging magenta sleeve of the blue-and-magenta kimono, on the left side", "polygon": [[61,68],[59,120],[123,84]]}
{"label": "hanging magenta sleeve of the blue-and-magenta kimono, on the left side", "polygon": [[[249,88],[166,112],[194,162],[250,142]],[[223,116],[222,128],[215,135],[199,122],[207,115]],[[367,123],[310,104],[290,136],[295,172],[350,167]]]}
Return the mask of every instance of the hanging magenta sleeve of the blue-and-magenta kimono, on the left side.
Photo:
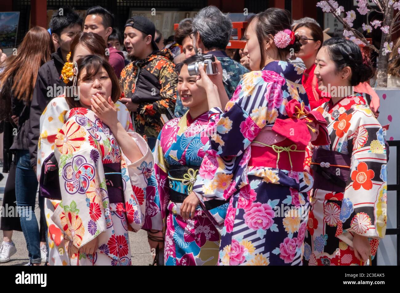
{"label": "hanging magenta sleeve of the blue-and-magenta kimono, on the left side", "polygon": [[154,148],[154,169],[146,189],[146,215],[142,229],[163,231],[166,224],[166,206],[169,202],[168,164],[161,147],[162,131]]}

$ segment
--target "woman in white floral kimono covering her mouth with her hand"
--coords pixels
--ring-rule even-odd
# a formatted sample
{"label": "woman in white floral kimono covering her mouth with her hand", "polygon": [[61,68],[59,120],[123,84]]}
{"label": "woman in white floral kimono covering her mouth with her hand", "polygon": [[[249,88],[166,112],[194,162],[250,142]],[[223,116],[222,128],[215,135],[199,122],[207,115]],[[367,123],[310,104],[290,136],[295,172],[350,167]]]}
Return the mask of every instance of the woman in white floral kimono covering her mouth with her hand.
{"label": "woman in white floral kimono covering her mouth with her hand", "polygon": [[[53,234],[51,225],[49,232],[55,242],[64,238],[64,265],[130,265],[128,230],[143,225],[144,166],[152,163],[151,152],[119,121],[114,101],[120,88],[110,64],[85,56],[73,74],[79,99],[65,98],[70,110],[56,134],[54,156],[42,162],[41,190],[62,199],[51,220],[63,235]],[[52,184],[56,169],[58,189]]]}

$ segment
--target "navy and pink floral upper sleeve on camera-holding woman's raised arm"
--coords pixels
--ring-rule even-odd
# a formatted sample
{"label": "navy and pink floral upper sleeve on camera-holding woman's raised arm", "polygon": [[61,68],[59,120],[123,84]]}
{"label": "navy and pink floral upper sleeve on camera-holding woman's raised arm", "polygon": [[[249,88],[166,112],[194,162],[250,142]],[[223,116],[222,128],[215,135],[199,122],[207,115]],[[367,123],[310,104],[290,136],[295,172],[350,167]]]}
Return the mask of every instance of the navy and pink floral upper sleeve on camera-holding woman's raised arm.
{"label": "navy and pink floral upper sleeve on camera-holding woman's raised arm", "polygon": [[210,110],[209,150],[218,157],[242,155],[260,130],[278,117],[279,109],[273,103],[282,101],[286,80],[276,72],[257,72],[245,75],[225,112],[218,107]]}

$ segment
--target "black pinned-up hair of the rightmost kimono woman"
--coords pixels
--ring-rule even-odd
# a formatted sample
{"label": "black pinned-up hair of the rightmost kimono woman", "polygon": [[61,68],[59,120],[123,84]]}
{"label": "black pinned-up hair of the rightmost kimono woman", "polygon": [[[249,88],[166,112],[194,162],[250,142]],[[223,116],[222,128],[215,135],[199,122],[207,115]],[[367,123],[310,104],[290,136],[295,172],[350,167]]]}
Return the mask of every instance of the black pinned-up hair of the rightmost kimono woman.
{"label": "black pinned-up hair of the rightmost kimono woman", "polygon": [[351,68],[351,86],[357,86],[373,76],[369,58],[363,58],[360,48],[353,41],[330,38],[324,42],[323,47],[327,48],[330,58],[335,62],[336,72],[340,72],[346,66]]}

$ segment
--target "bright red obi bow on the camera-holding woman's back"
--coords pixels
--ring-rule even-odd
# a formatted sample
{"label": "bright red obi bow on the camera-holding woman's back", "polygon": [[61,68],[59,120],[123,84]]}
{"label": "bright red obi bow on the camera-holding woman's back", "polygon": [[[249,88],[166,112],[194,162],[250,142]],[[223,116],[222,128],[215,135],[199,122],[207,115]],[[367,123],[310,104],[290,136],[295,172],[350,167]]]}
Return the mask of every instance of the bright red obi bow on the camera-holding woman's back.
{"label": "bright red obi bow on the camera-holding woman's back", "polygon": [[300,104],[298,100],[290,100],[285,109],[289,118],[276,119],[272,130],[298,145],[306,146],[310,141],[314,145],[330,144],[328,129],[326,129],[328,123],[320,112],[309,111],[304,106],[304,102]]}

